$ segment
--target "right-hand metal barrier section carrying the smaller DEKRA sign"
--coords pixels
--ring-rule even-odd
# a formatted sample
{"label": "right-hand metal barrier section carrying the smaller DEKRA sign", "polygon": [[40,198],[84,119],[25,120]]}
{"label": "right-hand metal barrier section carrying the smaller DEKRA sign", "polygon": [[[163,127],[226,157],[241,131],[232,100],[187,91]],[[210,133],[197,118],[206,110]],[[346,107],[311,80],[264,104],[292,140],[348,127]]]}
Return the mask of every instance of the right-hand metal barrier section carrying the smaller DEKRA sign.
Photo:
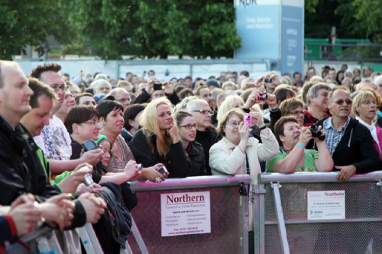
{"label": "right-hand metal barrier section carrying the smaller DEKRA sign", "polygon": [[259,174],[255,253],[382,253],[382,172],[337,174]]}

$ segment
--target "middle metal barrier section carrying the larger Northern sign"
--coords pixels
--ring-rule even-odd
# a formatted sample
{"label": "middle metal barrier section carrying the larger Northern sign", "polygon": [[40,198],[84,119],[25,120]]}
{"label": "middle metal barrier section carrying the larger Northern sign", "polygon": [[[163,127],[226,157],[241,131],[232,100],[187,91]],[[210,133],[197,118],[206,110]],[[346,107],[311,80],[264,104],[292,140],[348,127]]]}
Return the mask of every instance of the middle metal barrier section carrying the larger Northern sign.
{"label": "middle metal barrier section carrying the larger Northern sign", "polygon": [[[241,183],[250,184],[250,177],[248,175],[201,176],[166,179],[159,184],[136,182],[131,188],[137,194],[138,206],[132,210],[132,216],[140,230],[147,253],[247,254],[248,196],[239,194]],[[198,192],[209,193],[211,232],[195,233],[192,231],[188,234],[190,232],[188,231],[185,234],[177,235],[176,233],[171,236],[162,236],[164,229],[161,224],[161,205],[163,206],[161,195],[173,197],[171,195],[186,193],[188,196],[192,196],[193,193]],[[193,223],[195,222],[190,224]],[[185,229],[185,231],[187,230]],[[128,242],[133,253],[140,253],[142,242],[137,242],[131,237]]]}

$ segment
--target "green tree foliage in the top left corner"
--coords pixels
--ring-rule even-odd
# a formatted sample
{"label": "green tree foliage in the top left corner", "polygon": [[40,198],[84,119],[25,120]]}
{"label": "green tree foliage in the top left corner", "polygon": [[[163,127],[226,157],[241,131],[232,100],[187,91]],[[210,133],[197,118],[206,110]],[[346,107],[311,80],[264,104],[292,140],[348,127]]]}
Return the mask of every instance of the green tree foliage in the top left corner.
{"label": "green tree foliage in the top left corner", "polygon": [[48,0],[0,0],[0,58],[11,59],[24,46],[44,44],[49,35],[57,35],[57,13]]}

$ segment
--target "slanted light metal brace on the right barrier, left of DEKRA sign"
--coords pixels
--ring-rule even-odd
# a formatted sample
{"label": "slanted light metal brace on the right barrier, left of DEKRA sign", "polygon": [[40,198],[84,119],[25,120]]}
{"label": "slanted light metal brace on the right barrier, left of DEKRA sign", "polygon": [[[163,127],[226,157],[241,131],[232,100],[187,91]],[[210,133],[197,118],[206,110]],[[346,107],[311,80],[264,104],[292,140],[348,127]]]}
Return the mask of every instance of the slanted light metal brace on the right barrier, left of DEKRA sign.
{"label": "slanted light metal brace on the right barrier, left of DEKRA sign", "polygon": [[279,226],[280,241],[283,248],[283,254],[289,254],[288,238],[286,234],[283,207],[280,198],[280,183],[272,183],[273,193],[275,197],[275,208],[277,212],[277,224]]}

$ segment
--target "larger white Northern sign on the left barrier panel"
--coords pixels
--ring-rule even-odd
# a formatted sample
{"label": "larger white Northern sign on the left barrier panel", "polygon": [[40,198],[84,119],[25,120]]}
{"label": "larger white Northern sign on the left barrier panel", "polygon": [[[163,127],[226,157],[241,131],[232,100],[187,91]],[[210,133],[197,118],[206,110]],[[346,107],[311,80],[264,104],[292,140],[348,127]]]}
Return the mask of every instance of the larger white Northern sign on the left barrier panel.
{"label": "larger white Northern sign on the left barrier panel", "polygon": [[211,233],[209,194],[209,192],[161,194],[161,236]]}

